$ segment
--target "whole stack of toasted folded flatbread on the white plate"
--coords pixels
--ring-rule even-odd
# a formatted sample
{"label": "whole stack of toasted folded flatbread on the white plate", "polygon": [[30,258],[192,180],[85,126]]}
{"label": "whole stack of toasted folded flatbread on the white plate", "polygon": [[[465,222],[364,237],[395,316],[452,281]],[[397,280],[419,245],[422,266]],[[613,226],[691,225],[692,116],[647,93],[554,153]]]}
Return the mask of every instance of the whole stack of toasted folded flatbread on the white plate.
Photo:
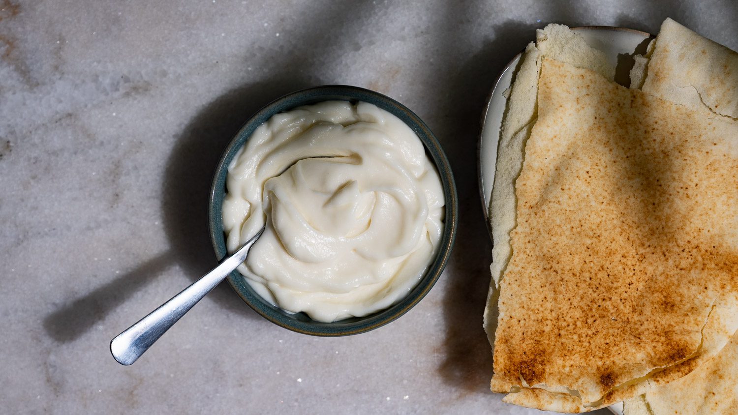
{"label": "whole stack of toasted folded flatbread on the white plate", "polygon": [[528,46],[490,206],[485,326],[506,402],[674,413],[681,380],[735,374],[719,363],[738,348],[735,59],[666,21],[636,59],[641,91],[566,27]]}

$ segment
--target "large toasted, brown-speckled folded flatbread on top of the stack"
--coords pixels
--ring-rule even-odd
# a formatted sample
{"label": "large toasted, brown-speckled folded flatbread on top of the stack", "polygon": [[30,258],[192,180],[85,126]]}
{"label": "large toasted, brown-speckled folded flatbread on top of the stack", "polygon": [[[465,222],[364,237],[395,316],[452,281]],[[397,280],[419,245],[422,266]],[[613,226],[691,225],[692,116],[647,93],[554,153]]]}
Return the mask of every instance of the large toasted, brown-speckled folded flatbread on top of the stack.
{"label": "large toasted, brown-speckled folded flatbread on top of the stack", "polygon": [[738,126],[712,115],[544,61],[500,282],[492,390],[506,402],[601,408],[735,332],[712,311],[738,311],[719,299],[738,293]]}

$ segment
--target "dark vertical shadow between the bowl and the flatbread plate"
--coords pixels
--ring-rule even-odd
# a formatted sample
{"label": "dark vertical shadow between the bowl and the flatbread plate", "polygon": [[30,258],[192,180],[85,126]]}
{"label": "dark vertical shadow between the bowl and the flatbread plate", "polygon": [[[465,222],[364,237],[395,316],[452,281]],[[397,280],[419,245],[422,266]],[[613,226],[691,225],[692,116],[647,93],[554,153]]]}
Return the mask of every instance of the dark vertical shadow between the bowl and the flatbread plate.
{"label": "dark vertical shadow between the bowl and the flatbread plate", "polygon": [[466,139],[466,144],[456,146],[456,153],[449,153],[459,186],[459,227],[443,300],[446,358],[438,368],[444,381],[461,388],[463,394],[491,394],[492,378],[492,349],[482,327],[492,243],[478,189],[480,119],[497,75],[531,41],[539,26],[511,21],[494,28],[494,40],[466,60],[449,88],[453,91],[449,107],[460,110],[449,119],[453,125],[438,128],[439,136],[448,136],[450,132],[443,131],[455,128],[455,136]]}

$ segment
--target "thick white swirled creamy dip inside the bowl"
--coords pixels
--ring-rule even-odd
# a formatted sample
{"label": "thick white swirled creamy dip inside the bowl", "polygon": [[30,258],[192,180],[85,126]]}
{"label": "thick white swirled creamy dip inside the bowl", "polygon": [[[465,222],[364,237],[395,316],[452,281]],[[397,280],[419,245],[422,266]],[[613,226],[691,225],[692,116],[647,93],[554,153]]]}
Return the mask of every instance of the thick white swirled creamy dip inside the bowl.
{"label": "thick white swirled creamy dip inside the bowl", "polygon": [[444,192],[423,144],[367,102],[276,114],[228,167],[228,251],[266,230],[238,271],[317,321],[382,310],[417,285],[441,239]]}

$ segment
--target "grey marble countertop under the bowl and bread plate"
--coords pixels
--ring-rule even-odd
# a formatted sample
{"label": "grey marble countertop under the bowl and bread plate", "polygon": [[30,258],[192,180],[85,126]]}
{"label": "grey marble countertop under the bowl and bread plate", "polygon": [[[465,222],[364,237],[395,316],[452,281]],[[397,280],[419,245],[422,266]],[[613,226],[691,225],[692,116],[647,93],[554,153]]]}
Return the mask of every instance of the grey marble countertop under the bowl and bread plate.
{"label": "grey marble countertop under the bowl and bread plate", "polygon": [[[0,412],[536,413],[487,386],[483,104],[535,28],[666,16],[738,48],[729,0],[0,1]],[[461,197],[441,280],[348,338],[280,329],[221,285],[118,365],[110,339],[215,265],[207,190],[230,136],[325,83],[388,94],[441,139]]]}

